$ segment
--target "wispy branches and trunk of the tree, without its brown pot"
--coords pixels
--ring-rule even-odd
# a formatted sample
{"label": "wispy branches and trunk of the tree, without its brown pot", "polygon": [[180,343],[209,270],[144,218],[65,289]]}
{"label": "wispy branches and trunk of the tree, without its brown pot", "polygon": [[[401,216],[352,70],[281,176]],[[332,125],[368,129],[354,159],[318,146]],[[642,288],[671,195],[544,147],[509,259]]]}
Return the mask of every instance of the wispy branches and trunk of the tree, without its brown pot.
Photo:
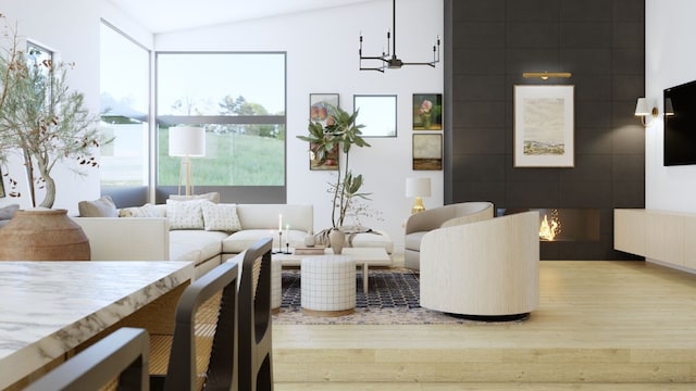
{"label": "wispy branches and trunk of the tree, without its brown pot", "polygon": [[7,37],[9,45],[0,53],[0,160],[7,164],[12,153],[18,154],[32,206],[37,206],[36,189],[44,188],[39,206],[50,209],[57,163],[73,161],[76,165],[71,167],[78,174],[84,174],[80,167],[97,166],[91,152],[101,142],[98,118],[85,106],[83,93],[67,86],[72,64],[37,60],[18,47],[16,34]]}

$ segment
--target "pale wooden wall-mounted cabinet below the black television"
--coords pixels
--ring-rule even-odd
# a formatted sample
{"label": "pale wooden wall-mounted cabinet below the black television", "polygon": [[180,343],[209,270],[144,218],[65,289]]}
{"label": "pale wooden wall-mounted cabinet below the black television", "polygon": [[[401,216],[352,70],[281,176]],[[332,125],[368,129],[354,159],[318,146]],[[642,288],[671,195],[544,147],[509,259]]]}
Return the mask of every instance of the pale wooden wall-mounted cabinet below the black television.
{"label": "pale wooden wall-mounted cabinet below the black television", "polygon": [[613,247],[650,262],[696,273],[696,213],[617,209]]}

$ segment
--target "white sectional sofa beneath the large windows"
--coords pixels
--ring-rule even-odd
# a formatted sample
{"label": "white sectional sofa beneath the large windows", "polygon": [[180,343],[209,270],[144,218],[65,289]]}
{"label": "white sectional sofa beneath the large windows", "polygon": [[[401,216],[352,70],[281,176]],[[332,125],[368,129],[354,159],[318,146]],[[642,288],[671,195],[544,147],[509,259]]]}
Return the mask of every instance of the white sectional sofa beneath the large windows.
{"label": "white sectional sofa beneath the large windows", "polygon": [[[283,248],[303,247],[308,232],[314,231],[312,205],[216,204],[236,210],[239,230],[174,229],[165,204],[149,205],[154,217],[73,217],[83,227],[95,261],[190,261],[199,277],[263,237],[273,238],[278,249],[278,216],[283,216]],[[286,227],[288,229],[286,229]],[[214,228],[214,227],[213,227]],[[359,234],[353,247],[384,247],[391,253],[386,234]]]}

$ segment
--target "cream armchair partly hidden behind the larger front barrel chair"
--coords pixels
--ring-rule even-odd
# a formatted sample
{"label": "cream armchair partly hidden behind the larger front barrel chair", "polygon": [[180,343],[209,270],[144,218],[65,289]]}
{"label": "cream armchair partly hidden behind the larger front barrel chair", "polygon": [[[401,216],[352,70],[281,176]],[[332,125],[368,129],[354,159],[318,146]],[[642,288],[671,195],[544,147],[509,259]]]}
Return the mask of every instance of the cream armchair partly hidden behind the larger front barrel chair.
{"label": "cream armchair partly hidden behind the larger front barrel chair", "polygon": [[412,214],[406,222],[405,266],[412,269],[420,268],[421,240],[428,231],[492,217],[490,202],[461,202]]}

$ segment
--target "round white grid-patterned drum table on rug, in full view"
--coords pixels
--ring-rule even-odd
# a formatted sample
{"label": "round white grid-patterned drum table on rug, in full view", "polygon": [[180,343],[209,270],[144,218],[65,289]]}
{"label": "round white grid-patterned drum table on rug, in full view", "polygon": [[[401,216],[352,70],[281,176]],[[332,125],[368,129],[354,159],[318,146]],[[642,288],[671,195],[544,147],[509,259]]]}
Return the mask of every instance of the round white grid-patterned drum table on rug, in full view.
{"label": "round white grid-patterned drum table on rug, in full view", "polygon": [[356,262],[348,255],[306,257],[300,265],[302,311],[341,316],[356,308]]}

